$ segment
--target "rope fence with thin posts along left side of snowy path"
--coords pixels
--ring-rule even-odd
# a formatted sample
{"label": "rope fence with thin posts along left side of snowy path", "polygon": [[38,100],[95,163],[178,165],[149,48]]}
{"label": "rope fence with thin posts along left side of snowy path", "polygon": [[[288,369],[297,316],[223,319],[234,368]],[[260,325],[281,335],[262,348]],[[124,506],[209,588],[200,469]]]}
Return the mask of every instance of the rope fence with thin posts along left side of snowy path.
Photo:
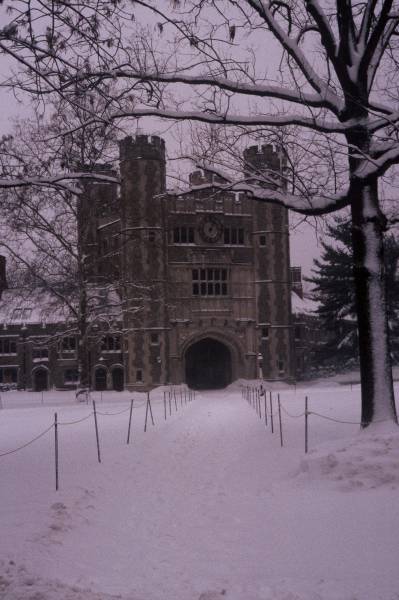
{"label": "rope fence with thin posts along left side of snowy path", "polygon": [[[172,399],[174,402],[172,402]],[[169,403],[169,407],[170,407],[170,411],[169,411],[169,418],[170,418],[172,416],[172,406],[174,406],[174,408],[175,408],[174,412],[177,412],[179,410],[179,408],[182,408],[184,405],[186,405],[189,402],[192,402],[194,400],[195,400],[195,391],[187,389],[187,388],[183,389],[180,386],[179,387],[176,387],[176,386],[169,387],[167,390],[165,390],[163,392],[163,401],[162,401],[162,398],[160,401],[160,403],[163,404],[163,408],[164,408],[163,413],[164,413],[165,421],[168,418],[168,411],[167,411],[168,403]],[[58,489],[59,489],[59,427],[60,426],[77,425],[79,423],[83,423],[84,421],[87,421],[91,417],[94,417],[93,421],[94,421],[94,429],[95,429],[95,435],[96,435],[97,459],[98,459],[99,463],[101,463],[101,447],[100,447],[100,429],[99,429],[99,422],[97,419],[98,416],[114,417],[114,416],[122,415],[124,413],[129,412],[128,434],[127,434],[127,441],[126,441],[127,444],[130,443],[131,426],[132,426],[134,409],[141,408],[144,405],[146,407],[144,432],[147,431],[147,424],[148,424],[149,417],[151,418],[152,425],[155,426],[154,415],[152,412],[150,392],[147,392],[146,400],[139,401],[138,403],[135,404],[135,398],[133,397],[133,398],[131,398],[131,400],[129,402],[129,406],[127,408],[124,408],[123,410],[120,410],[117,412],[100,412],[100,411],[98,411],[95,400],[92,400],[92,405],[93,405],[93,410],[89,414],[85,415],[81,419],[76,419],[73,421],[59,421],[57,413],[54,413],[54,422],[49,427],[44,429],[41,433],[36,435],[34,438],[29,440],[28,442],[25,442],[21,446],[18,446],[17,448],[13,448],[10,450],[6,450],[5,452],[0,452],[0,458],[3,458],[10,454],[15,454],[17,452],[20,452],[21,450],[23,450],[24,448],[27,448],[28,446],[30,446],[31,444],[33,444],[40,438],[44,437],[52,429],[54,429],[55,489],[56,489],[56,491],[58,491]]]}

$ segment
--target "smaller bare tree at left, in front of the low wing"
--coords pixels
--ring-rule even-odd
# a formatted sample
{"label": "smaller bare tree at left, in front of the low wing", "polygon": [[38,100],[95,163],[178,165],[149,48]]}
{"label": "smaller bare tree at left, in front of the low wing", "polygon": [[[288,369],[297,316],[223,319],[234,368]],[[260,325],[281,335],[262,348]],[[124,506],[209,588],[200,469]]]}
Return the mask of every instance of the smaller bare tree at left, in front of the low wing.
{"label": "smaller bare tree at left, in front of the low wing", "polygon": [[[111,187],[110,194],[116,196],[116,175],[110,165],[98,168],[99,160],[113,158],[112,132],[102,126],[99,130],[97,126],[85,127],[81,116],[58,102],[49,122],[18,121],[13,135],[7,138],[8,168],[21,170],[28,177],[40,173],[43,180],[51,179],[60,167],[72,173],[103,173],[106,182],[100,180],[101,185]],[[76,133],[64,136],[60,143],[60,128],[72,123],[79,124]],[[48,138],[53,139],[51,144]],[[51,190],[49,187],[27,185],[3,190],[0,247],[11,257],[17,275],[19,272],[19,287],[26,293],[45,290],[51,305],[65,313],[65,327],[50,341],[60,344],[63,335],[76,336],[79,382],[87,388],[91,346],[98,351],[103,335],[121,333],[121,300],[115,279],[106,272],[101,278],[93,277],[93,262],[103,258],[94,250],[87,254],[91,225],[87,204],[94,202],[89,197],[90,186],[79,179],[75,185],[65,182]]]}

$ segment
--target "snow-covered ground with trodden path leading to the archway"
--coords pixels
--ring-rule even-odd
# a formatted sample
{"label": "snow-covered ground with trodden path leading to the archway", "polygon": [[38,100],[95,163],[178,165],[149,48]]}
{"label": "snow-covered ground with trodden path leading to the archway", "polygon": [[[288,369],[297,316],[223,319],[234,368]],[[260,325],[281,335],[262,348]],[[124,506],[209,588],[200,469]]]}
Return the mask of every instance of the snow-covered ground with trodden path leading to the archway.
{"label": "snow-covered ground with trodden path leading to the archway", "polygon": [[[348,422],[311,415],[307,455],[306,394]],[[166,421],[152,396],[127,445],[131,395],[97,394],[99,464],[90,404],[2,394],[0,455],[55,411],[80,421],[59,426],[58,492],[54,429],[0,456],[2,600],[398,600],[399,435],[350,424],[358,387],[281,389],[283,448],[238,385],[178,394]]]}

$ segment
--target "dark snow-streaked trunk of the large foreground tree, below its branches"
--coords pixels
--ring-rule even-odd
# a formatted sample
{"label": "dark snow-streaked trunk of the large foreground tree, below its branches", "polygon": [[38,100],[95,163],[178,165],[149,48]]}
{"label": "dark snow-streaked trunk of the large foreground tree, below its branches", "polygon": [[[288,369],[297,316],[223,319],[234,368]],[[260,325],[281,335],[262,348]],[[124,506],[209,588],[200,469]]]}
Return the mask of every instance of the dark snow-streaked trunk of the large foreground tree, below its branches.
{"label": "dark snow-streaked trunk of the large foreground tree, below its branches", "polygon": [[379,210],[376,180],[359,189],[351,209],[362,427],[397,423],[386,310],[385,219]]}

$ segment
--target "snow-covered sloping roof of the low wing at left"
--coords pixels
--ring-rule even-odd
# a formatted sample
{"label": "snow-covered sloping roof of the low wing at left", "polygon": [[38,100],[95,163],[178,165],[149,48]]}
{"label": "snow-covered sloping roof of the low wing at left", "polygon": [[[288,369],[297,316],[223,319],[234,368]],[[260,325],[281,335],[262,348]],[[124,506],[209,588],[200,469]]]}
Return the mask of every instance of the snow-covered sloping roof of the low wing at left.
{"label": "snow-covered sloping roof of the low wing at left", "polygon": [[[75,301],[77,306],[77,300]],[[89,320],[98,316],[121,316],[121,300],[112,286],[88,288]],[[59,324],[76,319],[74,311],[45,288],[4,290],[0,299],[0,324]]]}

